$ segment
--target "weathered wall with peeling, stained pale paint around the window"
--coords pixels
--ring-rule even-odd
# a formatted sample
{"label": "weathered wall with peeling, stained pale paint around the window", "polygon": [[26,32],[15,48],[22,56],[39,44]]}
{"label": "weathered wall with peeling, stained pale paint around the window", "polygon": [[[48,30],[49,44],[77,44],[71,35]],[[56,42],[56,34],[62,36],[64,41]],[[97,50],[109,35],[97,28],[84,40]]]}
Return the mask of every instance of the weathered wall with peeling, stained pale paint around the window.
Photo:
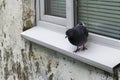
{"label": "weathered wall with peeling, stained pale paint around the window", "polygon": [[20,33],[34,26],[34,0],[0,0],[0,80],[113,80],[112,75]]}

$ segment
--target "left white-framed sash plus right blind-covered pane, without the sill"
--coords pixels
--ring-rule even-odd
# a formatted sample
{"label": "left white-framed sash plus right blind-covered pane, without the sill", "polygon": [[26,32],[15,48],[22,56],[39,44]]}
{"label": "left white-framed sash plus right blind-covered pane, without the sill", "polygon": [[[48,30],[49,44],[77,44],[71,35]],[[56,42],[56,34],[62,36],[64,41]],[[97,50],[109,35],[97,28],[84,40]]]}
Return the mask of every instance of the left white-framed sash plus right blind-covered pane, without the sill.
{"label": "left white-framed sash plus right blind-covered pane, without the sill", "polygon": [[66,29],[83,22],[91,33],[120,39],[119,3],[119,0],[40,0],[41,20]]}

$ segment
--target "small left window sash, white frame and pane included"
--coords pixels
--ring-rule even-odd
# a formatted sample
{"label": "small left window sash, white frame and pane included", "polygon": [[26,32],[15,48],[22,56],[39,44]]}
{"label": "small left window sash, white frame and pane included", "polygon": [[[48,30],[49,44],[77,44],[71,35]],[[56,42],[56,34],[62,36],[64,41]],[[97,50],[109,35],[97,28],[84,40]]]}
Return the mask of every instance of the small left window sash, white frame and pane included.
{"label": "small left window sash, white frame and pane included", "polygon": [[40,18],[66,28],[73,27],[73,0],[40,0]]}

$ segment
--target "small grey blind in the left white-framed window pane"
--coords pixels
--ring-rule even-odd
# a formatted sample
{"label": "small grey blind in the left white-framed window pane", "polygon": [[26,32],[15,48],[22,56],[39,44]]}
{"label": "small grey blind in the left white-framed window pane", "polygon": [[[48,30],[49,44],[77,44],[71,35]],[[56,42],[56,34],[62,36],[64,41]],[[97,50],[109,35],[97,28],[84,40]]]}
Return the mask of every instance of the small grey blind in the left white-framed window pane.
{"label": "small grey blind in the left white-framed window pane", "polygon": [[66,17],[66,0],[45,0],[45,14]]}

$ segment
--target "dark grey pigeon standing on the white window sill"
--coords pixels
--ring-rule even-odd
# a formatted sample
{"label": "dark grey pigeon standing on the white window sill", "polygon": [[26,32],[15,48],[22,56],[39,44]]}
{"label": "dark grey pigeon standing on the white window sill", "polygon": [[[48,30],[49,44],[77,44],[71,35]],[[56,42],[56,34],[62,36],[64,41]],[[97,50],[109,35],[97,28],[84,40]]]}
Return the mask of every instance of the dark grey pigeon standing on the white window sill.
{"label": "dark grey pigeon standing on the white window sill", "polygon": [[82,47],[82,50],[86,50],[85,43],[88,38],[88,30],[83,23],[77,24],[75,27],[68,29],[66,31],[66,37],[72,45],[77,46],[77,49],[74,51],[78,52]]}

